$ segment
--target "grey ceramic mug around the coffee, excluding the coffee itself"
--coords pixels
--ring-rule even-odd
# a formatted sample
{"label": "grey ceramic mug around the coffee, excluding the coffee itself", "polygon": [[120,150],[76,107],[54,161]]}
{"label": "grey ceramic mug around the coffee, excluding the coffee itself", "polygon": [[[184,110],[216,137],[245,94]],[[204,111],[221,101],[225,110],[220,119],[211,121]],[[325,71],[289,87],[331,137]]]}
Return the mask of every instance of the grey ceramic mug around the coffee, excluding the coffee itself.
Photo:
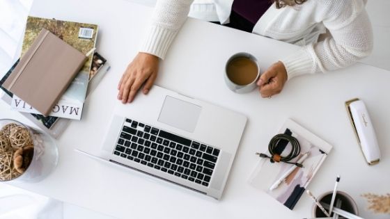
{"label": "grey ceramic mug around the coffee, excluding the coffee itself", "polygon": [[[231,61],[233,59],[239,58],[239,57],[249,58],[250,60],[253,61],[253,63],[256,63],[256,67],[257,67],[256,78],[253,81],[251,81],[251,83],[248,83],[246,85],[238,85],[238,84],[234,83],[233,81],[231,81],[231,79],[229,79],[229,77],[228,77],[228,71],[227,71],[228,70],[228,64],[231,63]],[[226,62],[224,79],[225,79],[225,82],[226,82],[226,85],[228,86],[228,88],[231,89],[233,92],[237,92],[237,93],[240,93],[240,94],[246,93],[246,92],[251,92],[254,88],[257,87],[256,82],[257,82],[259,76],[260,76],[260,67],[258,66],[258,61],[255,58],[255,56],[253,56],[253,55],[251,55],[249,53],[240,52],[240,53],[234,54]]]}

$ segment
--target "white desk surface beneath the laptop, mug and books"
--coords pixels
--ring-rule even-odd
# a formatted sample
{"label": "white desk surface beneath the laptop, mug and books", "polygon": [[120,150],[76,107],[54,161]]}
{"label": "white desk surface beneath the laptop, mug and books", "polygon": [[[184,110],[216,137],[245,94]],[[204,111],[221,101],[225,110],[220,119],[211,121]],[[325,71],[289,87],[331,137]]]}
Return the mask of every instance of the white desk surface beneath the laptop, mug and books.
{"label": "white desk surface beneath the laptop, mug and books", "polygon": [[[354,197],[361,216],[386,218],[366,211],[368,204],[360,195],[389,193],[390,72],[357,64],[331,74],[292,79],[272,99],[262,99],[256,91],[237,95],[223,79],[224,63],[231,54],[250,52],[265,70],[297,47],[194,19],[178,35],[156,83],[249,118],[222,199],[212,200],[132,170],[111,168],[74,152],[79,148],[98,153],[116,103],[118,79],[137,53],[151,11],[121,0],[34,2],[31,15],[99,24],[98,51],[109,60],[111,70],[86,102],[81,122],[71,122],[57,140],[59,165],[52,175],[37,184],[10,185],[118,218],[306,218],[313,204],[306,195],[290,211],[247,183],[258,161],[254,153],[264,152],[270,138],[291,117],[334,146],[309,185],[312,192],[332,190],[340,174],[338,188]],[[352,97],[366,102],[377,132],[382,161],[372,167],[364,162],[345,111],[344,102]],[[0,110],[0,117],[31,124],[3,102]]]}

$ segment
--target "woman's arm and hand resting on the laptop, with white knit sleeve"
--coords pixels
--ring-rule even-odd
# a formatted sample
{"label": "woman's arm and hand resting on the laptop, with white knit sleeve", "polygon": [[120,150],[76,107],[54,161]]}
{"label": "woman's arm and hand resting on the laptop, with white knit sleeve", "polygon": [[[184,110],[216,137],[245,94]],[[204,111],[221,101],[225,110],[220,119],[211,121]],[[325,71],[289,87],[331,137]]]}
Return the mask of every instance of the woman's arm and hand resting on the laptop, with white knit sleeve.
{"label": "woman's arm and hand resting on the laptop, with white knit sleeve", "polygon": [[149,92],[157,78],[159,59],[165,58],[166,51],[187,18],[192,1],[157,1],[139,54],[127,66],[118,83],[118,99],[123,104],[132,102],[143,84],[143,93]]}

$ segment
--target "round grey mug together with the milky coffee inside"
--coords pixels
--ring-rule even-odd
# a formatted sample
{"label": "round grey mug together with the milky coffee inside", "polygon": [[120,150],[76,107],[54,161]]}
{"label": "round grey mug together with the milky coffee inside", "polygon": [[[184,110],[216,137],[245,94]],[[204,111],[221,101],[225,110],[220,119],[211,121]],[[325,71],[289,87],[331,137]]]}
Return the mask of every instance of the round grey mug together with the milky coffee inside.
{"label": "round grey mug together with the milky coffee inside", "polygon": [[229,58],[225,68],[225,81],[228,88],[237,93],[249,92],[256,88],[260,76],[258,62],[248,53],[238,53]]}

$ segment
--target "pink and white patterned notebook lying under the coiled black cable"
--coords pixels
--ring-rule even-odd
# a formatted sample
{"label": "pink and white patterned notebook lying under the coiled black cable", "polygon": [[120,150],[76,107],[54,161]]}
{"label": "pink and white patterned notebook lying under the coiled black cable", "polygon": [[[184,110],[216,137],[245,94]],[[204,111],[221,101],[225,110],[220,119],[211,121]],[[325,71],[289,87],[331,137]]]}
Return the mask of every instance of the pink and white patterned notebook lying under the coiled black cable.
{"label": "pink and white patterned notebook lying under the coiled black cable", "polygon": [[[303,167],[296,167],[286,178],[283,175],[290,170],[293,164],[290,163],[271,163],[270,159],[260,158],[258,165],[253,170],[249,178],[251,186],[265,191],[268,195],[274,197],[284,206],[293,209],[304,190],[309,185],[311,179],[320,169],[320,166],[327,158],[332,146],[310,131],[304,129],[292,120],[287,120],[281,127],[279,133],[286,133],[297,138],[301,147],[300,155],[291,162],[296,162],[303,154],[309,152],[309,156],[303,161]],[[281,151],[281,156],[286,156],[291,151],[291,144],[288,141],[280,140],[276,149]],[[267,155],[270,153],[263,152]],[[267,177],[265,177],[267,176]],[[279,179],[284,178],[283,182],[274,189],[271,186]]]}

